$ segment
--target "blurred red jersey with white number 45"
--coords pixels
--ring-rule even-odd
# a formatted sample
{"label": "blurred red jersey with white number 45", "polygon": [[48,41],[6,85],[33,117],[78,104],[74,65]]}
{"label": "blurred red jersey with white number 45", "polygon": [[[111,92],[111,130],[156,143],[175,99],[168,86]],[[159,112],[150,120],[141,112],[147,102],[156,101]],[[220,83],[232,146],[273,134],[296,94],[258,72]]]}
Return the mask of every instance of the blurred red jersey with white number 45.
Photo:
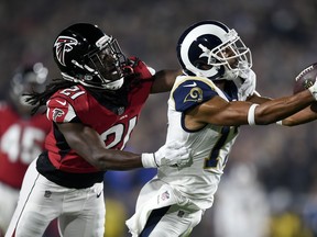
{"label": "blurred red jersey with white number 45", "polygon": [[45,114],[21,117],[6,102],[0,117],[0,182],[20,189],[29,165],[44,148],[51,123]]}

